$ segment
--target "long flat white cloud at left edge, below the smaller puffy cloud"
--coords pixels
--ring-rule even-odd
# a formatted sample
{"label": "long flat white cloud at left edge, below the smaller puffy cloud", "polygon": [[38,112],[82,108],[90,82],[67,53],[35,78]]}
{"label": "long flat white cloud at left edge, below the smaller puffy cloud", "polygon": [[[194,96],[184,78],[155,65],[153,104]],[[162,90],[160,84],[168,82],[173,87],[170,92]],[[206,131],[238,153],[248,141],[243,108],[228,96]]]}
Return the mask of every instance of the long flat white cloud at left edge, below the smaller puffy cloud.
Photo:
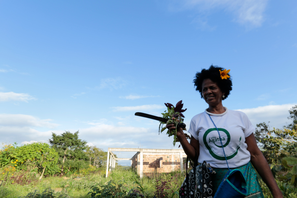
{"label": "long flat white cloud at left edge, below the smaller puffy cloud", "polygon": [[50,129],[56,128],[59,124],[50,123],[51,119],[41,120],[32,115],[23,114],[0,114],[1,126],[14,127],[47,127]]}

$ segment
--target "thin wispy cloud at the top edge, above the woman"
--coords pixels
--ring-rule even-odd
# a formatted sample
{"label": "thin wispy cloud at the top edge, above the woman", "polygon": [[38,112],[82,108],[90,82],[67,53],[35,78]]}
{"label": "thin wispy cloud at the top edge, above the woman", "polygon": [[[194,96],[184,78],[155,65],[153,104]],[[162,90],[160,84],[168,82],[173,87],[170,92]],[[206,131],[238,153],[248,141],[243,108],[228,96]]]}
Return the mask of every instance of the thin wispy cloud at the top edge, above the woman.
{"label": "thin wispy cloud at the top edge, above the woman", "polygon": [[[182,9],[197,9],[200,14],[223,9],[235,15],[235,21],[252,27],[259,27],[264,21],[263,13],[268,0],[184,0],[178,6]],[[182,4],[182,5],[180,5]]]}

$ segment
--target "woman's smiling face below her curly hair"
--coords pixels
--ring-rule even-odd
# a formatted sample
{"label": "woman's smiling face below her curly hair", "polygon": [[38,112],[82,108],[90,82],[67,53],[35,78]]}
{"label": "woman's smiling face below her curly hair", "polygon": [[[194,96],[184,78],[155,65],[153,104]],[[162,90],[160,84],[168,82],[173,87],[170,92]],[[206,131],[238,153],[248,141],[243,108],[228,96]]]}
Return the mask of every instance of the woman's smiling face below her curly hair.
{"label": "woman's smiling face below her curly hair", "polygon": [[205,102],[210,106],[216,106],[222,104],[222,95],[224,95],[217,85],[217,83],[212,80],[205,79],[202,83],[202,96]]}

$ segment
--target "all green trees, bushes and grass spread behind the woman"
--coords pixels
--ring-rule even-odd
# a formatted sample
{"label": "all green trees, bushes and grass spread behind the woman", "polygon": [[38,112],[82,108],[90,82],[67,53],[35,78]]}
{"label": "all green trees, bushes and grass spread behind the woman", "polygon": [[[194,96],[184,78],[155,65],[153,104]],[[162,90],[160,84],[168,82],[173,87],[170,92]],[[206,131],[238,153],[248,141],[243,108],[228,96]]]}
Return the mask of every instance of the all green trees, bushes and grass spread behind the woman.
{"label": "all green trees, bushes and grass spread behind the woman", "polygon": [[[285,198],[297,198],[297,105],[289,111],[293,124],[270,129],[257,124],[255,137]],[[185,172],[144,177],[117,166],[105,178],[107,152],[86,146],[78,132],[53,133],[50,145],[5,145],[0,150],[2,198],[157,198],[178,197]],[[265,198],[271,193],[258,176]]]}

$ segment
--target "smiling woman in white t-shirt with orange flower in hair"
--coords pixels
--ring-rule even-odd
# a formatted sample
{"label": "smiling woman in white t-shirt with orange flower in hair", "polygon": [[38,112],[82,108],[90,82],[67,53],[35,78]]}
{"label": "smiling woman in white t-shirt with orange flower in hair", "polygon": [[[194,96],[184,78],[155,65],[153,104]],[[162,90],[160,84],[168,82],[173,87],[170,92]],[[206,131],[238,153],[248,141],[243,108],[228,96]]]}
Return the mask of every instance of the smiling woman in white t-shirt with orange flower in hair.
{"label": "smiling woman in white t-shirt with orange flower in hair", "polygon": [[[190,123],[188,132],[191,134],[190,143],[187,141],[181,128],[177,129],[177,137],[190,159],[195,159],[198,153],[198,162],[206,161],[217,172],[212,178],[213,190],[217,191],[222,178],[228,171],[225,155],[229,168],[238,168],[244,172],[251,162],[263,178],[274,198],[282,198],[274,180],[271,169],[257,146],[253,132],[255,127],[243,112],[228,110],[222,105],[232,90],[232,81],[223,68],[210,66],[196,73],[194,83],[201,98],[208,104],[205,112],[195,115]],[[210,115],[210,116],[209,116]],[[211,121],[211,119],[213,122]],[[217,126],[224,147],[221,146]],[[175,129],[173,124],[168,124],[169,130]],[[252,166],[247,168],[247,191],[250,197],[263,198],[263,193]]]}

